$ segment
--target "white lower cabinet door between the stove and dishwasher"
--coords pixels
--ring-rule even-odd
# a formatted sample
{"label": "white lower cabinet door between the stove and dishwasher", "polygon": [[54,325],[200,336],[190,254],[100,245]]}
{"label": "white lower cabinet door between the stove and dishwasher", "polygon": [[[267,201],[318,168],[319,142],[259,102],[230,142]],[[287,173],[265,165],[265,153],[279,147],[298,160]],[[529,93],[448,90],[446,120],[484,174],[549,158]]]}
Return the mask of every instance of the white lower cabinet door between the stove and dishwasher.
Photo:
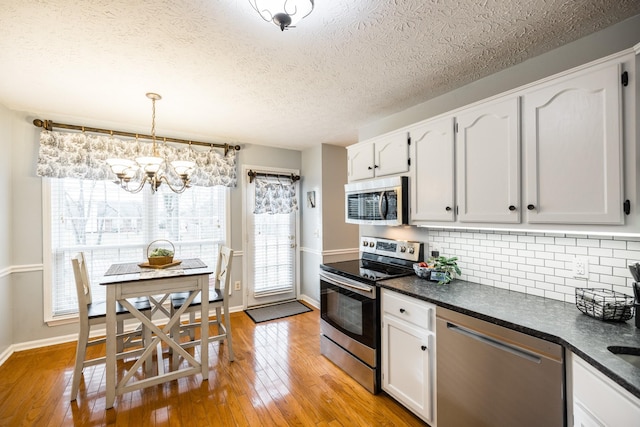
{"label": "white lower cabinet door between the stove and dishwasher", "polygon": [[433,333],[393,316],[383,317],[382,388],[427,422],[433,421],[430,369]]}

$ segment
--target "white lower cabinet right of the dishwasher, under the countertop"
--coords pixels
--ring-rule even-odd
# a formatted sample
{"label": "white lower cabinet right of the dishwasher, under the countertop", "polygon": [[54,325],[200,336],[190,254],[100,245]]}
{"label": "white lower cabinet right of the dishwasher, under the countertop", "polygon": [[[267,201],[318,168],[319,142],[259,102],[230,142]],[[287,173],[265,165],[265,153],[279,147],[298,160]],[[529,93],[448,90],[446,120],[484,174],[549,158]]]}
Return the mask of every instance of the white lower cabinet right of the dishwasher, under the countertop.
{"label": "white lower cabinet right of the dishwasher, under the countertop", "polygon": [[574,427],[640,425],[640,399],[571,353],[568,377],[571,403],[567,425]]}

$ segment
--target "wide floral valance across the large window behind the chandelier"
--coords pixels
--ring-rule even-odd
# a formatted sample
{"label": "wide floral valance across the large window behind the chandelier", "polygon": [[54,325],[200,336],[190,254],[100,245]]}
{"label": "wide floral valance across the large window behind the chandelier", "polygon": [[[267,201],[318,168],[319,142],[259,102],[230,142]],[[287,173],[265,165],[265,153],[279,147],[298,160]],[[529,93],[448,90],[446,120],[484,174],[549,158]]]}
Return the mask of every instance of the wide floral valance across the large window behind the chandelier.
{"label": "wide floral valance across the large window behind the chandelier", "polygon": [[[191,185],[212,187],[223,185],[235,187],[236,152],[229,150],[225,156],[219,149],[196,150],[192,147],[175,148],[164,143],[157,144],[158,155],[166,161],[191,160],[196,168],[191,175]],[[116,176],[106,160],[126,158],[134,160],[152,155],[150,142],[122,140],[110,135],[94,135],[81,132],[40,132],[38,176],[49,178],[80,178],[113,181]],[[178,176],[169,168],[163,171],[175,183]],[[138,172],[140,173],[140,172]],[[133,181],[139,180],[139,177]]]}

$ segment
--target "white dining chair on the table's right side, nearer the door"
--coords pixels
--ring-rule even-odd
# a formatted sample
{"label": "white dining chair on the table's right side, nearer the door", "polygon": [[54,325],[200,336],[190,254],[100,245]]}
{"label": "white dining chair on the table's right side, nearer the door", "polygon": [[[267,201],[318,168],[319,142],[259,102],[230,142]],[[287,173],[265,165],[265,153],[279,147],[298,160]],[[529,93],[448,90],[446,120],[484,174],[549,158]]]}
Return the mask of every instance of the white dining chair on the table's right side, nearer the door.
{"label": "white dining chair on the table's right side, nearer the door", "polygon": [[[226,341],[230,362],[233,362],[234,359],[233,345],[231,342],[231,320],[229,316],[229,300],[233,293],[233,287],[229,285],[232,261],[233,249],[226,246],[220,247],[216,272],[213,276],[213,286],[209,288],[209,309],[215,308],[216,310],[216,317],[209,320],[209,326],[217,327],[217,334],[211,335],[211,332],[209,332],[209,342],[222,343]],[[211,280],[209,283],[211,283]],[[188,292],[171,294],[172,314],[182,307],[188,297]],[[186,312],[189,313],[189,323],[176,324],[171,332],[173,336],[177,336],[178,334],[186,334],[189,336],[190,341],[182,344],[185,348],[200,344],[199,340],[195,340],[194,334],[194,329],[200,326],[200,323],[196,322],[196,313],[200,312],[200,304],[201,299],[200,295],[198,295],[186,310]],[[177,358],[175,357],[173,366],[174,369],[177,368]]]}

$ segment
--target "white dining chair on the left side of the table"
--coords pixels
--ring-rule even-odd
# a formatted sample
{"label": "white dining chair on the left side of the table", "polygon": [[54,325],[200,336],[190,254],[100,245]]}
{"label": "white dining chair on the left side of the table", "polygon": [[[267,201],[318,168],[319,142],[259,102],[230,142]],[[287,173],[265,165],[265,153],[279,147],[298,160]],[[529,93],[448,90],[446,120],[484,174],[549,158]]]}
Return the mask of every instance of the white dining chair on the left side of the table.
{"label": "white dining chair on the left side of the table", "polygon": [[[80,378],[82,371],[87,366],[93,366],[105,363],[106,357],[96,357],[87,359],[87,348],[98,344],[104,344],[106,338],[96,338],[89,340],[91,327],[95,325],[106,325],[106,302],[93,302],[91,296],[91,283],[87,271],[86,259],[83,252],[78,253],[71,258],[73,266],[73,275],[76,282],[76,291],[78,295],[78,318],[80,321],[80,332],[78,333],[78,344],[76,347],[76,361],[73,369],[73,380],[71,386],[71,399],[75,400],[80,388]],[[151,314],[151,306],[147,298],[136,298],[131,303],[139,310]],[[116,321],[117,321],[117,358],[122,359],[128,356],[139,355],[144,350],[144,343],[149,342],[151,333],[144,326],[132,332],[124,332],[124,321],[134,318],[120,304],[116,304]],[[127,351],[127,348],[137,348],[136,350]],[[150,368],[150,364],[146,363],[146,368]]]}

